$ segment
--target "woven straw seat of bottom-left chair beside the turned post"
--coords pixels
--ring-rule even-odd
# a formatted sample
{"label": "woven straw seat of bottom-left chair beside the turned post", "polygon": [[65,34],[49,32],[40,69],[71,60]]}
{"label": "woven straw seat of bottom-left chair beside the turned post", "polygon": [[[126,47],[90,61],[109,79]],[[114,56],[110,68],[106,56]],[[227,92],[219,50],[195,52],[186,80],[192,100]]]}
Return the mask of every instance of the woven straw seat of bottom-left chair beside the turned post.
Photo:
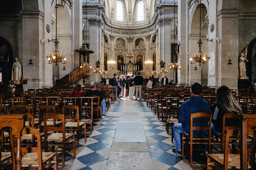
{"label": "woven straw seat of bottom-left chair beside the turned post", "polygon": [[[55,152],[42,152],[43,162],[48,161],[54,156]],[[22,167],[37,167],[38,166],[38,153],[25,153],[21,159]]]}

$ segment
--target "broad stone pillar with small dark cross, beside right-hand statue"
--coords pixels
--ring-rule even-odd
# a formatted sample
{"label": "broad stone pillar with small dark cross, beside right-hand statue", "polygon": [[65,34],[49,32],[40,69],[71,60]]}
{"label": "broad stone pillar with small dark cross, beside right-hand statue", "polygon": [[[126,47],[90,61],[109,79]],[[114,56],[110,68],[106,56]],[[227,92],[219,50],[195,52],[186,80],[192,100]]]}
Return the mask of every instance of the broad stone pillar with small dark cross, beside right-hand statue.
{"label": "broad stone pillar with small dark cross, beside right-hand statue", "polygon": [[[238,77],[238,17],[240,10],[220,10],[218,16],[218,86],[237,89]],[[231,59],[233,64],[227,65]]]}

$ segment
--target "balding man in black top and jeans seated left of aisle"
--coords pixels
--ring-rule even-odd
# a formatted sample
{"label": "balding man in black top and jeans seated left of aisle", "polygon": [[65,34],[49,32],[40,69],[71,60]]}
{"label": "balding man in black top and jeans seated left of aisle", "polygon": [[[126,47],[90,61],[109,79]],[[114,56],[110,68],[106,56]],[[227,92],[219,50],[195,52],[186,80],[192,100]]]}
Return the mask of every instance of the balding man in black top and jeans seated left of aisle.
{"label": "balding man in black top and jeans seated left of aisle", "polygon": [[[105,109],[106,109],[106,101],[103,100],[102,92],[99,91],[99,90],[96,90],[96,85],[95,85],[94,82],[90,83],[90,87],[91,87],[91,90],[88,90],[85,93],[85,97],[88,97],[88,96],[100,96],[99,106],[102,107],[102,118],[104,118],[105,117]],[[96,99],[93,99],[93,102],[97,102]]]}

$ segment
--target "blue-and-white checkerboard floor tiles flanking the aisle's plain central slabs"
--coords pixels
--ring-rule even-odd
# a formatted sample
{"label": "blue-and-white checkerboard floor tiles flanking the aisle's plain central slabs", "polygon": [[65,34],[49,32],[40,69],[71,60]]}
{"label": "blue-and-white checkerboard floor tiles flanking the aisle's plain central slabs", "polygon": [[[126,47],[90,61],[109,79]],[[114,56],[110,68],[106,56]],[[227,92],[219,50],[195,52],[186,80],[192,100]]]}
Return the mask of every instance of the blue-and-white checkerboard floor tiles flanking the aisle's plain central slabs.
{"label": "blue-and-white checkerboard floor tiles flanking the aisle's plain central slabs", "polygon": [[[136,110],[139,113],[154,169],[205,168],[205,165],[199,163],[193,164],[192,167],[189,164],[189,158],[182,159],[172,153],[172,148],[175,145],[172,143],[171,136],[166,133],[165,123],[161,122],[161,119],[160,121],[158,120],[156,115],[151,112],[151,109],[147,107],[146,102],[121,98],[116,100],[114,104],[111,104],[110,109],[106,112],[107,117],[93,123],[93,131],[92,134],[88,134],[87,142],[84,143],[84,138],[79,140],[79,148],[76,149],[76,159],[73,159],[73,152],[69,152],[65,158],[65,167],[61,168],[61,154],[58,155],[59,169],[107,169],[108,156],[115,137],[118,121],[124,108]],[[127,169],[138,168],[127,167]]]}

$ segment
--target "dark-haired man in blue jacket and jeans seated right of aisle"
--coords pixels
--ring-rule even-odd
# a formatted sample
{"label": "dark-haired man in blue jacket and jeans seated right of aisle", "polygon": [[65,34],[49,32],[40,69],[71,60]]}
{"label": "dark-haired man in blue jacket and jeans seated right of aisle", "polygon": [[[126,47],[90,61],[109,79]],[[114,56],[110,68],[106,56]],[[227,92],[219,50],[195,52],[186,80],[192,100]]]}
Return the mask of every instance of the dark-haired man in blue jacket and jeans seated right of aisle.
{"label": "dark-haired man in blue jacket and jeans seated right of aisle", "polygon": [[[180,108],[179,121],[180,123],[173,125],[173,136],[176,149],[172,149],[172,152],[181,156],[181,139],[180,133],[189,135],[190,128],[190,114],[205,112],[210,113],[210,106],[207,101],[203,100],[199,94],[202,92],[202,85],[199,83],[193,83],[190,88],[190,99],[184,101]],[[199,118],[200,119],[200,118]],[[200,126],[202,120],[194,119],[193,124]],[[198,125],[199,124],[199,125]],[[194,131],[193,136],[203,136],[207,133],[207,130],[204,131]]]}

